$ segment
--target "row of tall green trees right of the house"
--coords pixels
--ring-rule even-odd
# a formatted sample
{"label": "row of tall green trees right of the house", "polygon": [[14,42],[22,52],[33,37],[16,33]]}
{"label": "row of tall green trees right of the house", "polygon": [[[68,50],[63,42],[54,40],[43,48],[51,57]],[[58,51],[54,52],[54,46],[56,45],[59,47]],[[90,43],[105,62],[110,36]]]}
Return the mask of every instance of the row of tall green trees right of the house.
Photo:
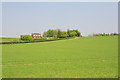
{"label": "row of tall green trees right of the house", "polygon": [[43,33],[43,37],[57,37],[57,38],[66,38],[66,37],[73,37],[73,36],[81,36],[81,33],[78,30],[69,30],[61,31],[60,29],[53,30],[49,29],[48,31]]}

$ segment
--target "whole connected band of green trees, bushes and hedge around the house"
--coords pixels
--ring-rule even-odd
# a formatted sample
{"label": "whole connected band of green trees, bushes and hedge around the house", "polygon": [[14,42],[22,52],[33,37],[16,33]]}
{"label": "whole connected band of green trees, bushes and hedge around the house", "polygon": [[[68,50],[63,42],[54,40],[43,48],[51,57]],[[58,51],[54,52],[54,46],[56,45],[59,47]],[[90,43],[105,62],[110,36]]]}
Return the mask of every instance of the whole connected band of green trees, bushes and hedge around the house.
{"label": "whole connected band of green trees, bushes and hedge around the house", "polygon": [[59,40],[59,39],[66,39],[72,37],[80,37],[82,36],[78,30],[69,30],[62,31],[60,29],[49,29],[43,33],[43,38],[33,39],[31,35],[21,35],[20,39],[23,41],[51,41],[51,40]]}

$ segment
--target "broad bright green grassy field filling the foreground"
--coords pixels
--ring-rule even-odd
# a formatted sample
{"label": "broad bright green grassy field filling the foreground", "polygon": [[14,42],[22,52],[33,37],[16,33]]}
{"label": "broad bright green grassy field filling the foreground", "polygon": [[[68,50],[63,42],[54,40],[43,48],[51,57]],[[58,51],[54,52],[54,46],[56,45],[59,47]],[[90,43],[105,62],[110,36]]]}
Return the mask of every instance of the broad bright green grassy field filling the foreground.
{"label": "broad bright green grassy field filling the foreground", "polygon": [[118,37],[2,45],[3,78],[117,78]]}

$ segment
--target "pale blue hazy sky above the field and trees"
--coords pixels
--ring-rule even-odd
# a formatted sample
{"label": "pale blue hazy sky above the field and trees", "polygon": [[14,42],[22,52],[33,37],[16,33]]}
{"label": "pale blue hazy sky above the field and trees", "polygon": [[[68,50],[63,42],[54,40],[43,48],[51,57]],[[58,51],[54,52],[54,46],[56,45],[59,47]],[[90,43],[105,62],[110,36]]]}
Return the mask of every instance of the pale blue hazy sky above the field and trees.
{"label": "pale blue hazy sky above the field and trees", "polygon": [[83,36],[118,32],[117,2],[3,2],[2,35],[78,29]]}

